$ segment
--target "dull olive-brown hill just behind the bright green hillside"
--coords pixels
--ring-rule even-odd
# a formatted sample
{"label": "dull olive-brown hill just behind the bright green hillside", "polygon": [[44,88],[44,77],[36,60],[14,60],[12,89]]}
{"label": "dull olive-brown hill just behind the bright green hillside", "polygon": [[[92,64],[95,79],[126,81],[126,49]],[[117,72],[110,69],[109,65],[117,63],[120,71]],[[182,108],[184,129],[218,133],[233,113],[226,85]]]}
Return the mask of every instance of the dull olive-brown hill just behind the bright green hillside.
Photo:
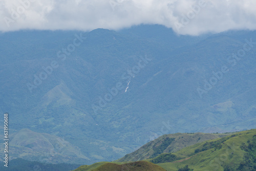
{"label": "dull olive-brown hill just behind the bright green hillside", "polygon": [[116,162],[139,161],[154,158],[161,153],[173,153],[180,149],[210,139],[217,139],[230,134],[205,134],[205,133],[176,133],[163,135],[146,143],[135,152],[125,155]]}

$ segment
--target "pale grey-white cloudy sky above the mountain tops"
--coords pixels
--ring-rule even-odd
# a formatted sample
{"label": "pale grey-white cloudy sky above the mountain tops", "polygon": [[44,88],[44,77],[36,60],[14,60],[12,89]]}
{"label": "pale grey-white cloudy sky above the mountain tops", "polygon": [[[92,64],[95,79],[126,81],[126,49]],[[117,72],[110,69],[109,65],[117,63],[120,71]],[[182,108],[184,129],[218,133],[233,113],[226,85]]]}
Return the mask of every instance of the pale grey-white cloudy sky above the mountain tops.
{"label": "pale grey-white cloudy sky above the mountain tops", "polygon": [[256,0],[0,0],[0,31],[121,29],[160,24],[179,34],[256,29]]}

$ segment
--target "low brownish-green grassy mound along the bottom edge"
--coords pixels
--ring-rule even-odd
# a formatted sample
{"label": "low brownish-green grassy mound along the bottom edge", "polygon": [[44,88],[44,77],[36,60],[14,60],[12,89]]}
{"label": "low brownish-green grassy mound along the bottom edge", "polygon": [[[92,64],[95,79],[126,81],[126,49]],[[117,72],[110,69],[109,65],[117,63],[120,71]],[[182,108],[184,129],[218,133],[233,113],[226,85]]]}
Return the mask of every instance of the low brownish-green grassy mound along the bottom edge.
{"label": "low brownish-green grassy mound along the bottom edge", "polygon": [[[96,168],[95,168],[96,167]],[[143,171],[143,170],[151,170],[151,171],[165,171],[162,167],[148,162],[148,161],[138,161],[132,163],[125,164],[116,164],[116,163],[95,163],[92,166],[80,166],[74,171],[121,171],[121,170],[133,170],[133,171]]]}

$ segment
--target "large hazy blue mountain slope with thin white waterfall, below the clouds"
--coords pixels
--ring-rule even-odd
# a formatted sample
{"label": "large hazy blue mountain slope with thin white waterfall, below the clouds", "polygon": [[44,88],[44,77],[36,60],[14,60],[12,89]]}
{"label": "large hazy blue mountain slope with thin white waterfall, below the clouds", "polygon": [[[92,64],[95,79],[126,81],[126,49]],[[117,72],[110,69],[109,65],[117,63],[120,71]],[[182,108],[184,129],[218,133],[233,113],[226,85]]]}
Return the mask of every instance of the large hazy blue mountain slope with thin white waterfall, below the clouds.
{"label": "large hazy blue mountain slope with thin white waterfall, below the clouds", "polygon": [[[15,132],[65,138],[90,158],[85,164],[116,160],[164,134],[255,126],[256,32],[179,37],[162,26],[137,26],[0,38],[0,112],[10,113]],[[251,49],[232,57],[245,39]],[[223,66],[228,72],[200,98],[197,89]],[[28,83],[37,85],[32,92]]]}

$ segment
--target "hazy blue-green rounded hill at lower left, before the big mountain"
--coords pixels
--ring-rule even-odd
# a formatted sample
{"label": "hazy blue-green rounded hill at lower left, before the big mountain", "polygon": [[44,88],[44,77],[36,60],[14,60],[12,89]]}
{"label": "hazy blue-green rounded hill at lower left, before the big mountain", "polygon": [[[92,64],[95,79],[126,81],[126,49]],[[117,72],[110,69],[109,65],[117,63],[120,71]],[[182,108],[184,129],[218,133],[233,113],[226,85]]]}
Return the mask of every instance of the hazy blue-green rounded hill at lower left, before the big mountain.
{"label": "hazy blue-green rounded hill at lower left, before the big mountain", "polygon": [[10,159],[23,158],[42,163],[83,163],[90,159],[77,146],[55,135],[20,130],[10,136]]}

